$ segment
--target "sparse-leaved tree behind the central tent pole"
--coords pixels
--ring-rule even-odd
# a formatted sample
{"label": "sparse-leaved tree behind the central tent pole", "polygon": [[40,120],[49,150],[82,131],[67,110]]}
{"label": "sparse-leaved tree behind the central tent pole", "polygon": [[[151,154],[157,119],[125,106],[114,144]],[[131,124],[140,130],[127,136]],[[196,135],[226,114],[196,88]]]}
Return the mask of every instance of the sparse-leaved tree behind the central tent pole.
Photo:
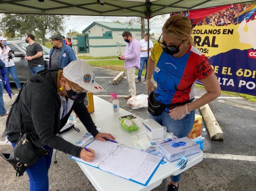
{"label": "sparse-leaved tree behind the central tent pole", "polygon": [[[149,25],[151,28],[155,28],[158,24],[163,24],[166,20],[166,17],[169,16],[169,14],[166,15],[158,15],[149,20]],[[141,25],[141,39],[145,36],[145,28],[147,27],[147,20],[143,17],[127,17],[128,20],[126,23],[128,23],[130,26],[132,24],[138,24]]]}

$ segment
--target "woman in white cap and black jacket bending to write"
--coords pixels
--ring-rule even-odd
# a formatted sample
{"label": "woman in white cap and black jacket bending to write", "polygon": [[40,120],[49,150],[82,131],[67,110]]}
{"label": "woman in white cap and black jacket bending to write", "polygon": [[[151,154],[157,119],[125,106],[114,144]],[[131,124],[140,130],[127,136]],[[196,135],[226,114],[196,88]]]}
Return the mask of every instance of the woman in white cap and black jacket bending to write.
{"label": "woman in white cap and black jacket bending to write", "polygon": [[22,86],[11,107],[2,137],[7,136],[15,147],[20,135],[29,133],[36,147],[43,147],[51,153],[26,169],[30,191],[49,190],[48,170],[53,149],[84,161],[91,162],[95,158],[94,150],[73,145],[56,135],[67,123],[72,110],[95,139],[114,139],[109,133],[98,132],[83,102],[87,91],[102,90],[95,82],[91,67],[79,60],[70,62],[64,69],[42,70]]}

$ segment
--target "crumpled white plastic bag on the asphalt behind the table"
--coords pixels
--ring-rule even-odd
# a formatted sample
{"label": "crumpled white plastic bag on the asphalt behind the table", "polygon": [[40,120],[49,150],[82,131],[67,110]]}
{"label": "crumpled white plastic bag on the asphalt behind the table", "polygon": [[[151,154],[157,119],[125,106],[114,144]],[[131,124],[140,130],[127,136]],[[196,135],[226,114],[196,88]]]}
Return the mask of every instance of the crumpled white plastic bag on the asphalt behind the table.
{"label": "crumpled white plastic bag on the asphalt behind the table", "polygon": [[128,99],[127,104],[134,110],[148,107],[148,95],[140,94]]}

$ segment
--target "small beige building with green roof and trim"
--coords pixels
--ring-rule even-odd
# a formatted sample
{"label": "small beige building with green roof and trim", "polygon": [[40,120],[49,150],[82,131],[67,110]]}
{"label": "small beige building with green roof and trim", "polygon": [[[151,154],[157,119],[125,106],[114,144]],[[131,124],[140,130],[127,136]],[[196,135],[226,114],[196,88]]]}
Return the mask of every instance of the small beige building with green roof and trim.
{"label": "small beige building with green roof and trim", "polygon": [[[125,51],[126,42],[122,33],[129,30],[132,36],[141,40],[141,26],[128,23],[93,22],[77,36],[78,53],[90,56],[119,56]],[[147,28],[145,29],[147,30]]]}

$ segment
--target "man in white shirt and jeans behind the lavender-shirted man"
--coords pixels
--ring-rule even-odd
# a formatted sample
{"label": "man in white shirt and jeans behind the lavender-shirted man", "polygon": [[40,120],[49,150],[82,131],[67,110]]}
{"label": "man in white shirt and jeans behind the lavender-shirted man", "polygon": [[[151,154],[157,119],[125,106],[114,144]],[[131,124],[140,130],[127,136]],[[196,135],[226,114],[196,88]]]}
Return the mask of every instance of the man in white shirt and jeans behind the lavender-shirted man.
{"label": "man in white shirt and jeans behind the lavender-shirted man", "polygon": [[[147,76],[147,68],[148,68],[148,33],[145,33],[145,36],[142,40],[140,40],[140,69],[138,72],[138,78],[135,80],[135,83],[138,83],[141,81],[141,74],[144,68],[144,65],[146,64],[146,73],[145,73],[145,79]],[[151,48],[153,47],[153,42],[149,40],[149,51],[151,51]]]}

